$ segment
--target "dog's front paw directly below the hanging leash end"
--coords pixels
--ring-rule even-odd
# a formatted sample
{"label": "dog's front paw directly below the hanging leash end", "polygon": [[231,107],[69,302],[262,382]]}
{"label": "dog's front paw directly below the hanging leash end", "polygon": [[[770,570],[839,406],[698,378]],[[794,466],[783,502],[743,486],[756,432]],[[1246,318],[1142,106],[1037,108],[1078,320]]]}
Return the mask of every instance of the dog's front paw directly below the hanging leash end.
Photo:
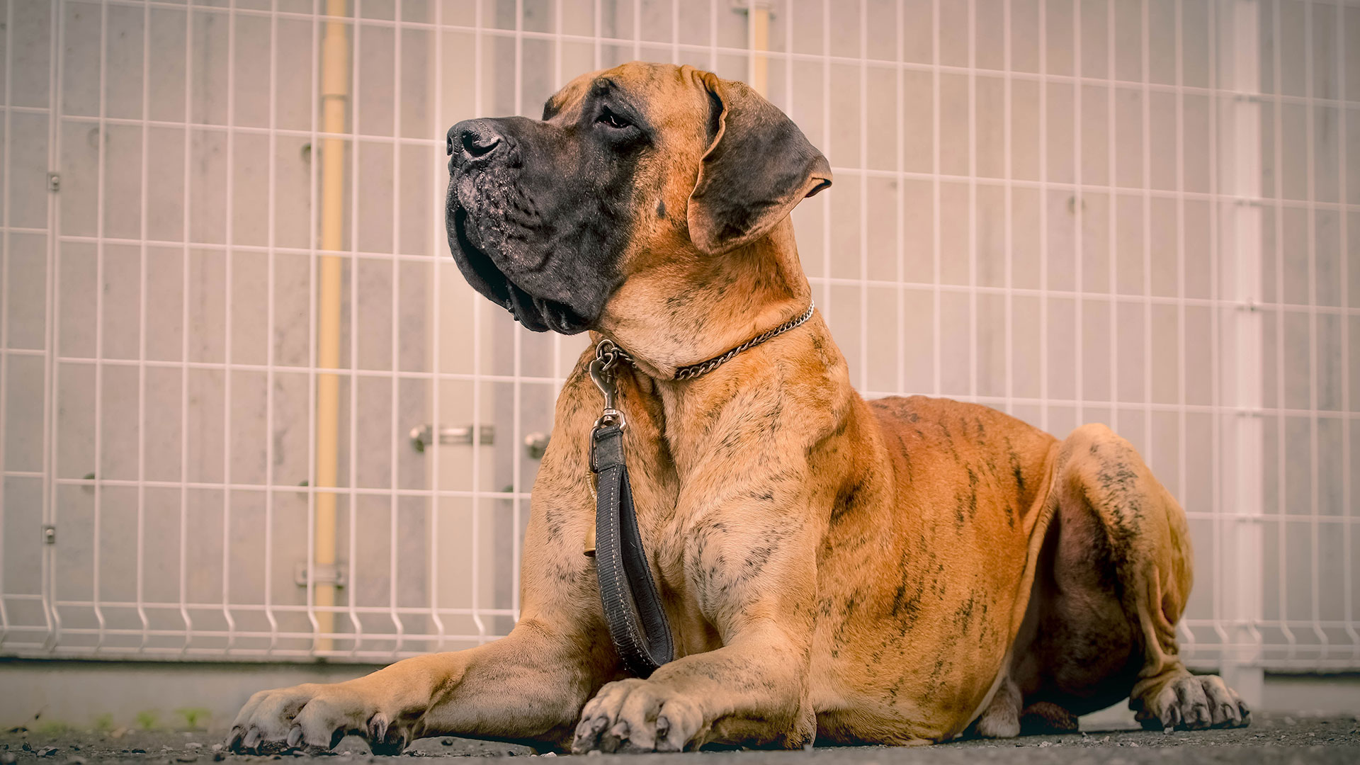
{"label": "dog's front paw directly below the hanging leash end", "polygon": [[653,681],[616,681],[581,711],[571,751],[683,751],[704,728],[699,705],[684,694]]}

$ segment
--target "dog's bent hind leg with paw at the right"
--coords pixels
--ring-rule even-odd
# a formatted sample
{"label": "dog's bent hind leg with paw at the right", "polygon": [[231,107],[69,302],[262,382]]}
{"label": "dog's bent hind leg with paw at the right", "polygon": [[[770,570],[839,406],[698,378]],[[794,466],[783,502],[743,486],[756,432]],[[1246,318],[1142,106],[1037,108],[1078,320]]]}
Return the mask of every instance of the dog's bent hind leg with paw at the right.
{"label": "dog's bent hind leg with paw at the right", "polygon": [[1149,728],[1247,724],[1221,678],[1193,675],[1179,657],[1194,564],[1180,505],[1103,425],[1078,427],[1058,449],[1034,662],[1019,681],[1025,702],[1085,713],[1127,694]]}

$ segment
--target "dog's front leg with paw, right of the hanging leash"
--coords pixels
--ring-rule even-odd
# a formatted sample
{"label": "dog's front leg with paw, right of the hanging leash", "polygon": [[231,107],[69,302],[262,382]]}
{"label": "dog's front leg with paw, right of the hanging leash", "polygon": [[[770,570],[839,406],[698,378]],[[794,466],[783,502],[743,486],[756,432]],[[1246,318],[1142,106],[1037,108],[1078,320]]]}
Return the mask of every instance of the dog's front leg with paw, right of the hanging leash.
{"label": "dog's front leg with paw, right of the hanging leash", "polygon": [[[722,647],[605,685],[586,704],[573,751],[680,751],[709,742],[798,747],[816,735],[808,697],[816,539],[801,481],[738,481],[721,498],[681,495],[687,587]],[[793,472],[782,475],[792,476]],[[681,515],[683,517],[683,515]]]}

